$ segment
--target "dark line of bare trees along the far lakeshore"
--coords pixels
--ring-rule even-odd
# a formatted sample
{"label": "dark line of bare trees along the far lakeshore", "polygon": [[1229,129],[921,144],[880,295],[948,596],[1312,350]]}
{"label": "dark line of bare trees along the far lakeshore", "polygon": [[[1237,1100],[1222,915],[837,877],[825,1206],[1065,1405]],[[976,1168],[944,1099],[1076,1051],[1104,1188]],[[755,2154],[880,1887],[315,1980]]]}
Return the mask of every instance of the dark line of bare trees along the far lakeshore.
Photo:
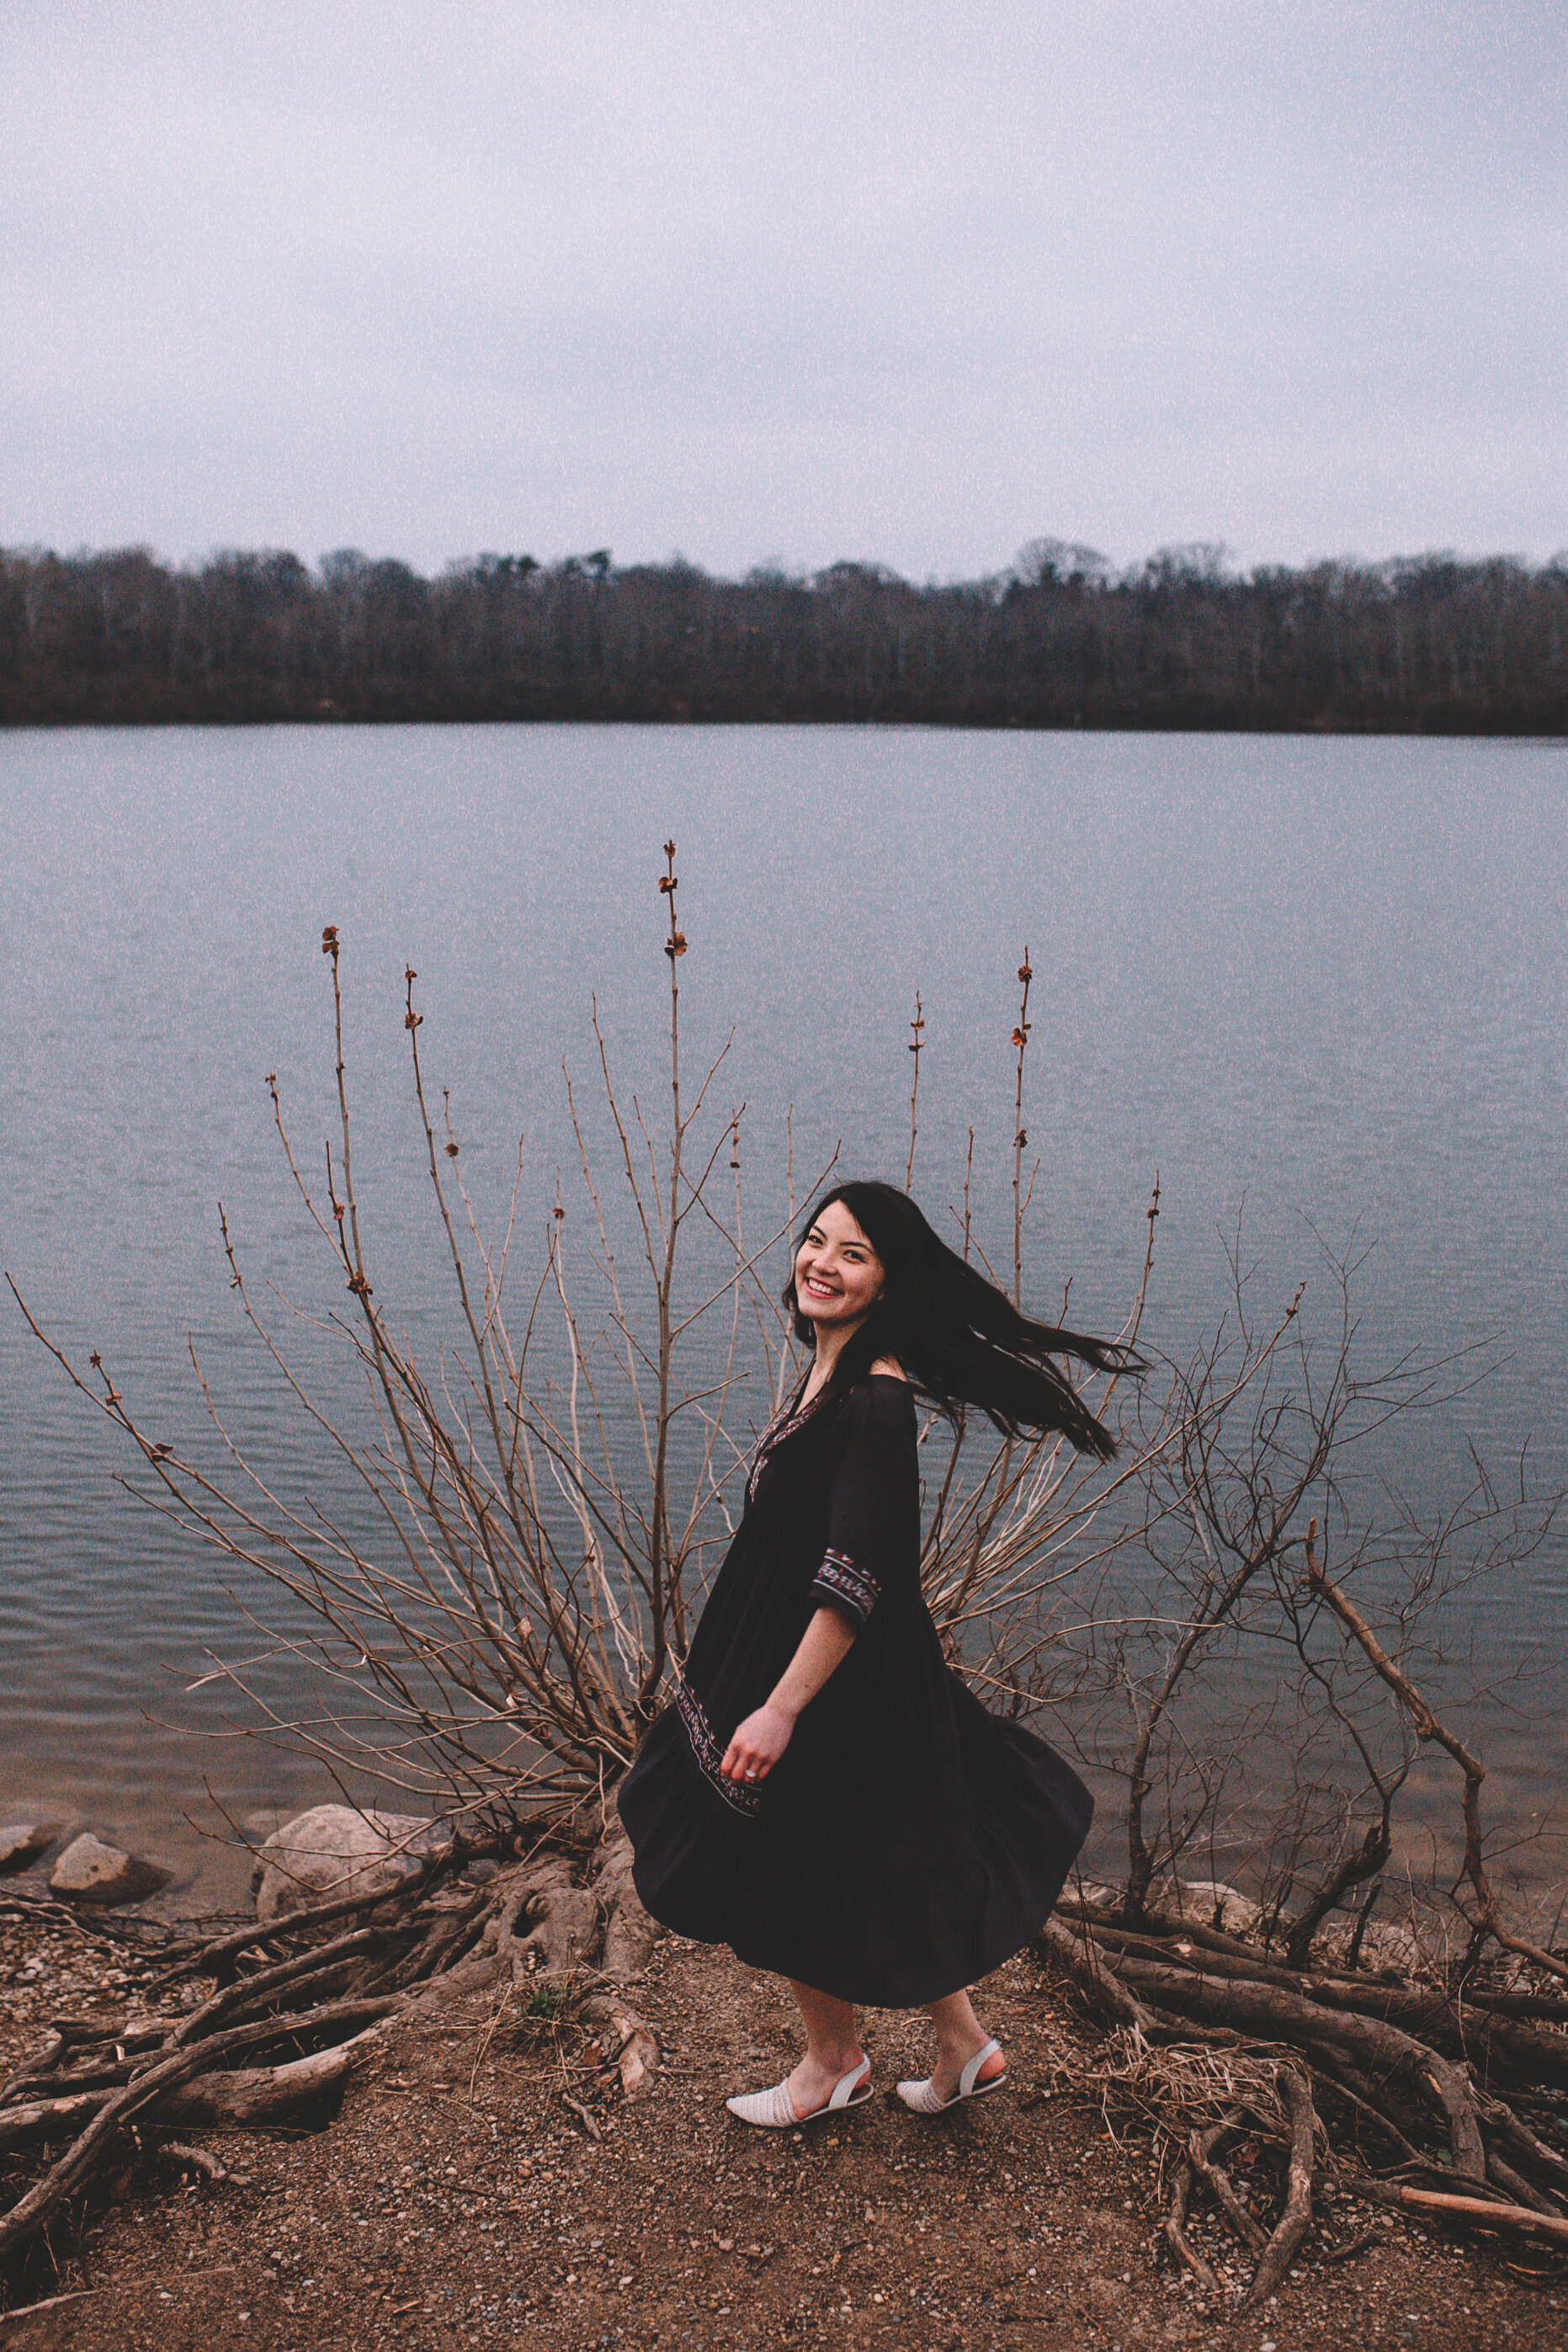
{"label": "dark line of bare trees along the far lakeshore", "polygon": [[1568,734],[1568,555],[1114,574],[1037,539],[997,576],[712,579],[607,548],[423,579],[353,548],[0,550],[0,724],[882,720]]}

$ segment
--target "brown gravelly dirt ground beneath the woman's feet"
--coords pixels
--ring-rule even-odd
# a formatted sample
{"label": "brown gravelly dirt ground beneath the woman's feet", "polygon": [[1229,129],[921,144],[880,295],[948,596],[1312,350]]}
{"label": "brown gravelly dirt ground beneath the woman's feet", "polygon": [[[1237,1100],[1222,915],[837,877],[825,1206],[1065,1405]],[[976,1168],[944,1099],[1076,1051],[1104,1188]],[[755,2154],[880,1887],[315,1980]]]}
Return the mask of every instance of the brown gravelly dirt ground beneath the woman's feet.
{"label": "brown gravelly dirt ground beneath the woman's feet", "polygon": [[[87,1997],[115,1999],[113,1983],[85,1990],[101,1973],[92,1955],[71,1985],[78,1959],[66,1945],[54,1938],[33,1976],[7,1955],[7,2063],[40,2039],[54,2006],[80,2013]],[[517,1994],[505,2009],[475,1994],[435,2023],[400,2023],[317,2129],[205,2136],[235,2176],[226,2183],[190,2180],[165,2159],[127,2169],[12,2281],[0,2345],[1561,2352],[1568,2343],[1568,2265],[1448,2241],[1345,2192],[1319,2204],[1276,2303],[1251,2314],[1206,2307],[1159,2237],[1147,2138],[1110,2133],[1081,2089],[1093,2037],[1027,1955],[978,1997],[1004,2037],[1009,2091],[940,2122],[891,2098],[898,2074],[926,2072],[919,2018],[867,2018],[877,2065],[867,2107],[837,2126],[764,2133],[731,2122],[722,2100],[792,2063],[780,1990],[729,1955],[668,1940],[635,1999],[663,2042],[663,2070],[632,2100],[618,2089],[585,2100],[597,2140],[562,2103],[562,2089],[588,2082],[574,2072],[583,2030],[520,2018]],[[1265,2169],[1260,2159],[1258,2178]],[[1382,2244],[1326,2260],[1373,2225]],[[1194,2234],[1222,2274],[1241,2279],[1227,2237],[1201,2220]]]}

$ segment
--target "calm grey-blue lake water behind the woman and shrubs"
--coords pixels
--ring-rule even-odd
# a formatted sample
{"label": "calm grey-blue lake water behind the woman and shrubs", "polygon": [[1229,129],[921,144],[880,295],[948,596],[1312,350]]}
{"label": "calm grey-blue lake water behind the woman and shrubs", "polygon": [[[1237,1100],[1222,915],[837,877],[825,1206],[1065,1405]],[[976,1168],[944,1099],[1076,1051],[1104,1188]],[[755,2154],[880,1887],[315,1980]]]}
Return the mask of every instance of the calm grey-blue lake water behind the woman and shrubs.
{"label": "calm grey-blue lake water behind the woman and shrubs", "polygon": [[[679,842],[682,1018],[745,1101],[762,1204],[785,1112],[811,1174],[903,1176],[907,1021],[926,1016],[914,1190],[1009,1230],[1013,969],[1034,962],[1030,1284],[1114,1329],[1161,1171],[1150,1329],[1197,1343],[1241,1221],[1260,1303],[1314,1225],[1368,1249],[1375,1352],[1481,1345],[1493,1376],[1399,1432],[1389,1475],[1436,1503],[1530,1439],[1568,1484],[1568,750],[1204,736],[856,729],[411,727],[0,736],[2,1256],[78,1357],[99,1348],[148,1425],[200,1418],[186,1334],[242,1439],[275,1439],[216,1230],[303,1279],[277,1162],[280,1073],[310,1171],[331,1120],[322,924],[343,936],[350,1084],[378,1263],[428,1225],[402,971],[465,1167],[536,1254],[571,1178],[559,1063],[592,1075],[590,997],[628,1087],[661,1103],[661,842]],[[209,1562],[115,1482],[132,1463],[0,1317],[0,1799],[174,1851],[195,1900],[233,1886],[205,1783],[235,1813],[320,1797],[320,1766],[221,1738],[212,1656],[263,1644]],[[289,1437],[289,1444],[296,1439]],[[1561,1785],[1568,1552],[1554,1536],[1474,1592],[1481,1679],[1537,1679],[1474,1717],[1493,1804]],[[259,1668],[284,1705],[284,1668]],[[197,1724],[209,1738],[165,1724]],[[179,1828],[181,1816],[193,1828]],[[174,1828],[172,1828],[174,1823]]]}

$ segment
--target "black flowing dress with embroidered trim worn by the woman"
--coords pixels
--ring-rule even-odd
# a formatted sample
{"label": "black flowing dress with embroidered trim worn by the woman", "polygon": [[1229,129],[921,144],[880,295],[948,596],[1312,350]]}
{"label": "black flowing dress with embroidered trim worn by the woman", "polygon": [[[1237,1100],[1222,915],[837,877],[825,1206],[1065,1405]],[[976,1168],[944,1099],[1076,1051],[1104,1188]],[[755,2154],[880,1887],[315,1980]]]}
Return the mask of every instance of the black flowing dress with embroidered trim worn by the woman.
{"label": "black flowing dress with embroidered trim worn by the woman", "polygon": [[[823,1604],[856,1628],[849,1656],[769,1776],[724,1780],[736,1724]],[[654,1919],[837,1999],[917,2009],[1044,1926],[1091,1811],[943,1658],[907,1383],[872,1374],[771,1423],[682,1686],[621,1785]]]}

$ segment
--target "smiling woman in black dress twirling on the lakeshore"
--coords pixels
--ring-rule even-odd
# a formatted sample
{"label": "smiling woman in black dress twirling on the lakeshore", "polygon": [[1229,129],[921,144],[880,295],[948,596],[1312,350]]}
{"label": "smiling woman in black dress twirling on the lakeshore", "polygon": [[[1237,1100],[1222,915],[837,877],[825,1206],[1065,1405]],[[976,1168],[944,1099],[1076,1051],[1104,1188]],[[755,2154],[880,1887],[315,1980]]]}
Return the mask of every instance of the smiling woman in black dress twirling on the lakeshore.
{"label": "smiling woman in black dress twirling on the lakeshore", "polygon": [[929,2013],[936,2065],[898,2096],[938,2114],[1006,2079],[966,1987],[1046,1922],[1093,1802],[943,1658],[919,1590],[914,1397],[1107,1458],[1048,1359],[1128,1359],[1030,1322],[884,1183],[816,1204],[785,1305],[816,1355],[762,1437],[621,1820],[656,1919],[790,1980],[806,2053],[733,2114],[792,2129],[863,2105],[856,2004]]}

